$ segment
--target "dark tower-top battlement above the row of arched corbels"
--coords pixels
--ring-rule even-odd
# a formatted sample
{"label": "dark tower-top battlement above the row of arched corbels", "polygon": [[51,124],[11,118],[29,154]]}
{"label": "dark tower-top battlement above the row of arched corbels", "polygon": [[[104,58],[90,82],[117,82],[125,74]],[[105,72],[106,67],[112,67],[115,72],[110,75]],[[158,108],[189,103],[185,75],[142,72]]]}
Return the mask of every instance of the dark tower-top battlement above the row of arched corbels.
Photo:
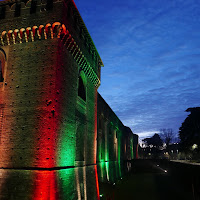
{"label": "dark tower-top battlement above the row of arched corbels", "polygon": [[[52,15],[52,13],[54,15]],[[35,18],[35,16],[39,19],[42,19],[43,16],[47,15],[49,15],[48,21],[41,21],[41,24],[47,22],[53,23],[55,21],[64,21],[75,40],[79,40],[77,41],[79,44],[83,43],[81,45],[84,45],[84,49],[87,49],[88,55],[92,57],[92,60],[95,60],[98,66],[103,66],[103,62],[73,0],[0,1],[0,21],[2,24],[0,27],[0,32],[3,34],[7,32],[7,34],[11,35],[11,32],[8,33],[10,27],[9,29],[7,28],[7,30],[4,30],[5,28],[3,28],[3,24],[6,24],[6,27],[8,27],[9,22],[12,22],[12,24],[15,25],[19,24],[18,26],[22,26],[21,24],[23,23],[24,26],[24,24],[27,24],[24,21],[27,20],[27,22],[30,23],[29,26],[37,26],[36,24],[33,24],[32,19]],[[17,22],[13,23],[13,20]],[[18,21],[20,21],[20,23],[18,23]],[[24,31],[23,26],[15,27],[13,31],[14,35],[20,34],[22,36],[22,32]],[[34,30],[32,31],[34,32]],[[4,35],[1,35],[1,37],[4,37]],[[19,41],[21,41],[20,38]],[[1,40],[0,45],[2,44],[3,43]]]}

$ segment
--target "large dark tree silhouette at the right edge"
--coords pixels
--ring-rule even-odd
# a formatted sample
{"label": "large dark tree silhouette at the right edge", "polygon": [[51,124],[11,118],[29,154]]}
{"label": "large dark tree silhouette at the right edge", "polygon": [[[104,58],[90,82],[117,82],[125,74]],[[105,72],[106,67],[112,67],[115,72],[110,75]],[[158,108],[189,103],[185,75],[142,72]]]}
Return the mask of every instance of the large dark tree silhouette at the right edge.
{"label": "large dark tree silhouette at the right edge", "polygon": [[180,145],[182,151],[194,152],[199,151],[200,147],[200,107],[188,108],[186,112],[190,112],[188,117],[179,128]]}

